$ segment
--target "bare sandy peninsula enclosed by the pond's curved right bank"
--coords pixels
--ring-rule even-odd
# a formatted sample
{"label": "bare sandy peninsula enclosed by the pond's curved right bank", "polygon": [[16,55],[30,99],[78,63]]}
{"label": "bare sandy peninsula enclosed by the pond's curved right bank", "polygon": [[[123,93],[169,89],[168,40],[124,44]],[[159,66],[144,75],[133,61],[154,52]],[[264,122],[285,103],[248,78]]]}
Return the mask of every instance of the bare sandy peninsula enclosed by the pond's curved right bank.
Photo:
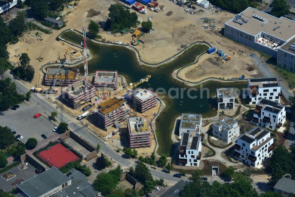
{"label": "bare sandy peninsula enclosed by the pond's curved right bank", "polygon": [[204,54],[199,62],[183,68],[178,72],[178,77],[190,81],[199,82],[208,77],[221,77],[223,79],[232,79],[232,77],[245,78],[263,76],[253,65],[253,62],[244,53],[235,53],[231,55],[231,60],[222,61],[222,58],[216,53]]}

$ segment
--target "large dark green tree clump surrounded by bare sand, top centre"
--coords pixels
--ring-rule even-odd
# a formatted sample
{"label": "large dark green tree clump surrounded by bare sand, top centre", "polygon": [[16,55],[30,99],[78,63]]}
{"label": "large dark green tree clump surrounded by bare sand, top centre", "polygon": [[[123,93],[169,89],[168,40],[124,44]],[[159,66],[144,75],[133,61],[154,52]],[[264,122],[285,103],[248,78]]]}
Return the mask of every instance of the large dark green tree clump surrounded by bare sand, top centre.
{"label": "large dark green tree clump surrounded by bare sand, top centre", "polygon": [[137,14],[125,9],[122,5],[112,4],[109,7],[109,18],[106,20],[106,28],[109,30],[123,30],[136,27]]}

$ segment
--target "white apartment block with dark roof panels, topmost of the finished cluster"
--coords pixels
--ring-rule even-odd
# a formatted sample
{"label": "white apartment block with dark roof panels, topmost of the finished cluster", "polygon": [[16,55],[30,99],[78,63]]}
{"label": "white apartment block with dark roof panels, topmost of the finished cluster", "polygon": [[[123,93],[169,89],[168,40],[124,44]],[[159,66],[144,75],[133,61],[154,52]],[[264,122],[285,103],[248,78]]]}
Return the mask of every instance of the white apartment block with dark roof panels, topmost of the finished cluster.
{"label": "white apartment block with dark roof panels, topmost of the finished cluster", "polygon": [[248,79],[247,96],[249,104],[257,104],[260,99],[268,99],[280,103],[282,93],[278,77]]}

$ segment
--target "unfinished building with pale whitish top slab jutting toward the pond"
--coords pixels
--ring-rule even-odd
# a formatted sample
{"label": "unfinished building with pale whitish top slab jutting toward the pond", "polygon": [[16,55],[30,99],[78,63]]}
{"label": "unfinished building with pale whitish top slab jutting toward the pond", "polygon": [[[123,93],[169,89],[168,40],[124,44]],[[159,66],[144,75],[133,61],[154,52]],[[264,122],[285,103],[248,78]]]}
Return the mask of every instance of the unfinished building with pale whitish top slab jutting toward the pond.
{"label": "unfinished building with pale whitish top slab jutting toward the pond", "polygon": [[140,113],[147,111],[157,105],[157,95],[151,90],[138,88],[135,93],[137,109]]}

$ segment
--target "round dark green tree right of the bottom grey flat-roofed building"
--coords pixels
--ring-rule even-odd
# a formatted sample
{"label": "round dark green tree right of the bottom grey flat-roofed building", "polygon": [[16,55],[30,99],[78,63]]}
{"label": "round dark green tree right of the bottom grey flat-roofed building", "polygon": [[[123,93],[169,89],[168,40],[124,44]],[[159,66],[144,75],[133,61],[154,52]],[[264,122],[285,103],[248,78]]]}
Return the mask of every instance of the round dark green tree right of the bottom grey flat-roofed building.
{"label": "round dark green tree right of the bottom grey flat-roofed building", "polygon": [[118,178],[106,172],[99,173],[93,182],[94,188],[101,191],[103,195],[111,193],[117,187],[117,184]]}

